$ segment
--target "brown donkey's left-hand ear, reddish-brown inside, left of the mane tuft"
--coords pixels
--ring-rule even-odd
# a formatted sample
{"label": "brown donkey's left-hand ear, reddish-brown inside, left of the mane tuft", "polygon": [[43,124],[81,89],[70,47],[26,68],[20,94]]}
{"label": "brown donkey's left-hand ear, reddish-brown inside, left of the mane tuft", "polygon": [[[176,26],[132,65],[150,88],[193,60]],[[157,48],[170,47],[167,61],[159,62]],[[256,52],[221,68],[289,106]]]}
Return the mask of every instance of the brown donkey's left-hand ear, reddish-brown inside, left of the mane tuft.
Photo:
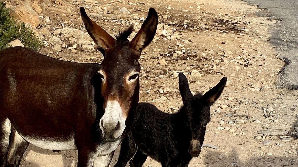
{"label": "brown donkey's left-hand ear, reddish-brown inside, left of the mane tuft", "polygon": [[82,20],[84,22],[84,25],[86,27],[88,34],[96,43],[97,48],[104,55],[105,49],[113,45],[115,42],[115,39],[88,17],[84,7],[81,7],[80,11],[81,11]]}

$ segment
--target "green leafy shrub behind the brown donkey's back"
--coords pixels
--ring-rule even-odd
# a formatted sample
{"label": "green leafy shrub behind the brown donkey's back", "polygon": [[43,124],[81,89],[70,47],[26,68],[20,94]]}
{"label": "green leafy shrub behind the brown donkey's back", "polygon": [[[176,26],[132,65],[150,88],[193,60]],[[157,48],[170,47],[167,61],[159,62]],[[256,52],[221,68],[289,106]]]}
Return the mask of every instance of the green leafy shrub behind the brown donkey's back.
{"label": "green leafy shrub behind the brown donkey's back", "polygon": [[25,23],[18,23],[9,15],[5,3],[0,2],[0,50],[10,47],[9,42],[18,39],[25,47],[39,50],[44,46],[35,33]]}

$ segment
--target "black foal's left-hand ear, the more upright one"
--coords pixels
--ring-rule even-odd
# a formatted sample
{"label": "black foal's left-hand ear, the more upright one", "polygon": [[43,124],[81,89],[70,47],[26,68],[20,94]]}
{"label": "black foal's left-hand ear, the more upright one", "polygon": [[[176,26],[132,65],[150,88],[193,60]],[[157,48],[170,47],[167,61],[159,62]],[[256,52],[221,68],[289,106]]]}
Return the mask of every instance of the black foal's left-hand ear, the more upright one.
{"label": "black foal's left-hand ear, the more upright one", "polygon": [[179,73],[179,91],[182,97],[183,104],[190,102],[193,99],[193,94],[190,92],[188,81],[183,73]]}

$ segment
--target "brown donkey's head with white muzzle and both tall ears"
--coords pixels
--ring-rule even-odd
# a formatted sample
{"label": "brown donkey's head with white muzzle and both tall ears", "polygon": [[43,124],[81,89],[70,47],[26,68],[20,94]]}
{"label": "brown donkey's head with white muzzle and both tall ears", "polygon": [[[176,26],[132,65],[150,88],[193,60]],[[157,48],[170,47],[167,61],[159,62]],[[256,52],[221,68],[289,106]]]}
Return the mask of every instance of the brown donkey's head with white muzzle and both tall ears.
{"label": "brown donkey's head with white muzzle and both tall ears", "polygon": [[85,27],[103,53],[104,59],[98,69],[102,78],[101,93],[105,111],[100,119],[100,128],[108,141],[117,141],[125,128],[128,112],[139,102],[138,62],[142,49],[150,44],[156,33],[158,16],[153,8],[135,37],[128,41],[134,31],[131,25],[127,30],[119,32],[114,39],[104,29],[92,21],[81,7],[81,16]]}

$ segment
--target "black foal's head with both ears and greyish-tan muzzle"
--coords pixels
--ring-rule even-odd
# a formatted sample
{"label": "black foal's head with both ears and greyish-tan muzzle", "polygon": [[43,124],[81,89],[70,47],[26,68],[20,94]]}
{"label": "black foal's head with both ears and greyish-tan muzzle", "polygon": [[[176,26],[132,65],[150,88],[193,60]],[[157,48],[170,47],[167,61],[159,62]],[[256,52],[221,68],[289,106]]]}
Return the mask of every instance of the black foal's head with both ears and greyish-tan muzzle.
{"label": "black foal's head with both ears and greyish-tan muzzle", "polygon": [[226,77],[206,92],[193,96],[190,92],[188,81],[183,73],[179,73],[179,90],[188,118],[191,132],[189,153],[192,157],[198,157],[204,142],[206,125],[210,121],[210,106],[218,99],[226,85]]}

